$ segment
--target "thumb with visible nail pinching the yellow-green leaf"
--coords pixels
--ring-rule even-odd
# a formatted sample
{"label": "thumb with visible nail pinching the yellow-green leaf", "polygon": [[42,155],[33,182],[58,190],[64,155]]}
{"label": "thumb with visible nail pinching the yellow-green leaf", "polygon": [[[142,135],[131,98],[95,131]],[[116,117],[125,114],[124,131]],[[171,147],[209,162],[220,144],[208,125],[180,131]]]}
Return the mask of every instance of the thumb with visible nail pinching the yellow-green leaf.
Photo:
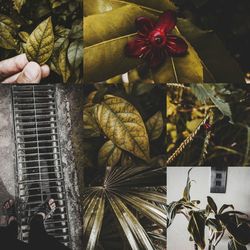
{"label": "thumb with visible nail pinching the yellow-green leaf", "polygon": [[36,62],[29,62],[18,76],[17,83],[39,83],[42,78],[41,67]]}

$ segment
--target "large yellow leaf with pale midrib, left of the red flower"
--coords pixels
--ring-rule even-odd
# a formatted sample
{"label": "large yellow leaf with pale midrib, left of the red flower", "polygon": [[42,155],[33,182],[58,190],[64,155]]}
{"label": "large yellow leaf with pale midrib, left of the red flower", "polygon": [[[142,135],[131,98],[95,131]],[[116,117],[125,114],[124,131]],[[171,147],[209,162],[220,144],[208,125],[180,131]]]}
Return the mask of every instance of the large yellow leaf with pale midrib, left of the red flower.
{"label": "large yellow leaf with pale midrib, left of the red flower", "polygon": [[[99,82],[135,68],[140,60],[125,56],[129,38],[135,36],[138,16],[153,17],[136,6],[93,15],[84,21],[84,81]],[[125,21],[124,21],[125,20]]]}

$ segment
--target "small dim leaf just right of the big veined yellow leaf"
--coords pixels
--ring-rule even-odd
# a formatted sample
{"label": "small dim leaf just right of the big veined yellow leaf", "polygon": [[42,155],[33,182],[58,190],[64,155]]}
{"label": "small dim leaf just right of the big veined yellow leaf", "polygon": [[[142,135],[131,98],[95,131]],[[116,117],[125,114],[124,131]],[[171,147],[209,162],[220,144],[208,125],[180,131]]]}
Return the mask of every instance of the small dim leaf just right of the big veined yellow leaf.
{"label": "small dim leaf just right of the big veined yellow leaf", "polygon": [[163,117],[162,113],[159,111],[155,113],[146,122],[146,127],[148,130],[148,136],[151,140],[158,139],[163,131]]}

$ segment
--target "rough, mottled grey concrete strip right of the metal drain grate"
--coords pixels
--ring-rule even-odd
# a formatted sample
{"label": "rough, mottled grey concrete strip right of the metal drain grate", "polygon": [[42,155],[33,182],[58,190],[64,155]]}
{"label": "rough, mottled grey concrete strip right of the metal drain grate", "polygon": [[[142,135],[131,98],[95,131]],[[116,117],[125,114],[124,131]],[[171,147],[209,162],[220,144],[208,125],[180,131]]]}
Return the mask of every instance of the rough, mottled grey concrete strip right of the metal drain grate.
{"label": "rough, mottled grey concrete strip right of the metal drain grate", "polygon": [[[82,242],[82,211],[80,199],[80,184],[83,179],[78,173],[78,150],[81,149],[80,134],[82,131],[82,87],[72,87],[58,84],[56,87],[56,102],[58,109],[59,140],[62,154],[67,207],[72,240],[72,250],[83,249]],[[78,121],[78,126],[74,126]],[[78,141],[75,142],[75,138]],[[83,173],[81,171],[80,173]]]}

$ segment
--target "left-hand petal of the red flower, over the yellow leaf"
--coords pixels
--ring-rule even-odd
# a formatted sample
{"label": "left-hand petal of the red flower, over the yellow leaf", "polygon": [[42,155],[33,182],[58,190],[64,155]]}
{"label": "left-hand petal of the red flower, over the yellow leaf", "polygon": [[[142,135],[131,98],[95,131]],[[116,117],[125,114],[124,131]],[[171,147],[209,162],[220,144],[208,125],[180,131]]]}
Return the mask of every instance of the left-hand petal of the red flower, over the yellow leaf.
{"label": "left-hand petal of the red flower, over the yellow leaf", "polygon": [[150,48],[143,39],[135,38],[125,46],[126,56],[141,58],[148,53]]}

